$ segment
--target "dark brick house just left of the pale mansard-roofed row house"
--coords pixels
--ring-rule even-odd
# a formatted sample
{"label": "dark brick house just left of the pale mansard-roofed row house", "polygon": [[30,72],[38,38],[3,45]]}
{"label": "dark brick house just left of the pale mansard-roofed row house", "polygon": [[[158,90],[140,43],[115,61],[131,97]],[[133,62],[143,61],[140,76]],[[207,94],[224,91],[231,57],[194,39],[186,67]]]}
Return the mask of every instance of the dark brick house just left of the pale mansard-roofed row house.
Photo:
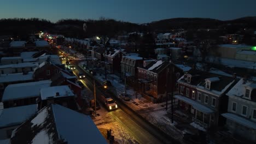
{"label": "dark brick house just left of the pale mansard-roofed row house", "polygon": [[125,52],[121,50],[114,50],[114,52],[109,52],[106,55],[105,66],[109,74],[120,73],[121,72],[121,59],[125,56]]}

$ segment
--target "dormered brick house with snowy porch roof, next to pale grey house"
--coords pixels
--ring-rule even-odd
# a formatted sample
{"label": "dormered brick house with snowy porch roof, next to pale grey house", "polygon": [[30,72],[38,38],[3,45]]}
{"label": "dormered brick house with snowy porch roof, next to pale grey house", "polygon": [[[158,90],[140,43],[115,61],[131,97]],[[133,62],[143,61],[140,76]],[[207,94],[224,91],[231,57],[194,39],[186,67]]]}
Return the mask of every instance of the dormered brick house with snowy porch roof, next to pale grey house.
{"label": "dormered brick house with snowy porch roof, next to pale grey house", "polygon": [[225,93],[236,83],[235,77],[228,77],[191,69],[178,81],[178,110],[204,128],[224,125],[221,113],[227,109]]}

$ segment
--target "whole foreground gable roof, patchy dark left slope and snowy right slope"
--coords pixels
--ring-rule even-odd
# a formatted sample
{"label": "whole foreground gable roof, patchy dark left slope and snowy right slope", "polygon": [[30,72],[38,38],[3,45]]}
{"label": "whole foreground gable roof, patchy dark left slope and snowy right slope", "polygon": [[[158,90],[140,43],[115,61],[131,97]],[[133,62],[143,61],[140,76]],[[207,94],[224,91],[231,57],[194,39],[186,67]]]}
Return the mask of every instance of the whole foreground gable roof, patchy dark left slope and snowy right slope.
{"label": "whole foreground gable roof, patchy dark left slope and snowy right slope", "polygon": [[57,104],[44,107],[11,135],[11,143],[38,142],[107,143],[90,116]]}

